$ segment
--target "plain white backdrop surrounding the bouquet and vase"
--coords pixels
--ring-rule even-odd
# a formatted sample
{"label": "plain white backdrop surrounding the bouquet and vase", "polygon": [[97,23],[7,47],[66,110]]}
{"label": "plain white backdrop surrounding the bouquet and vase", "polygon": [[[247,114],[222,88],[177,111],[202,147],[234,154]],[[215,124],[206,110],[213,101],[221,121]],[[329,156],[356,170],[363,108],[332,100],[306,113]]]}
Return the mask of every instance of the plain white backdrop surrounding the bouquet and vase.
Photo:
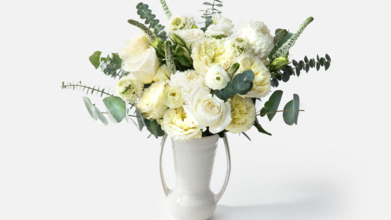
{"label": "plain white backdrop surrounding the bouquet and vase", "polygon": [[[200,0],[167,0],[194,15]],[[282,83],[281,108],[300,96],[297,126],[260,118],[272,137],[229,135],[232,175],[213,220],[390,220],[390,30],[385,1],[224,0],[235,24],[256,19],[274,32],[315,20],[294,59],[329,53],[329,71]],[[105,127],[66,80],[110,87],[96,50],[117,52],[138,30],[133,0],[20,0],[0,7],[0,220],[169,220],[158,173],[159,141],[132,124]],[[145,0],[163,24],[157,0]],[[102,107],[99,97],[93,103]],[[212,189],[225,155],[218,151]],[[170,147],[164,165],[174,185]]]}

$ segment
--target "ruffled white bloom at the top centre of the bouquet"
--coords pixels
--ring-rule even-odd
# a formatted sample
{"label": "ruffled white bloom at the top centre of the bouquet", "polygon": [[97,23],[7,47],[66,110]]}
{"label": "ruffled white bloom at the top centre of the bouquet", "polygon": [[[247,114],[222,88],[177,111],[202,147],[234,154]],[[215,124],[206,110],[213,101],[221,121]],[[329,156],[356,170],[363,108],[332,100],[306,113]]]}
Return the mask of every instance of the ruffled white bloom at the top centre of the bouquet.
{"label": "ruffled white bloom at the top centre of the bouquet", "polygon": [[221,14],[215,13],[212,15],[212,24],[209,25],[208,29],[205,32],[205,35],[208,37],[229,37],[234,32],[232,29],[234,25],[232,21]]}

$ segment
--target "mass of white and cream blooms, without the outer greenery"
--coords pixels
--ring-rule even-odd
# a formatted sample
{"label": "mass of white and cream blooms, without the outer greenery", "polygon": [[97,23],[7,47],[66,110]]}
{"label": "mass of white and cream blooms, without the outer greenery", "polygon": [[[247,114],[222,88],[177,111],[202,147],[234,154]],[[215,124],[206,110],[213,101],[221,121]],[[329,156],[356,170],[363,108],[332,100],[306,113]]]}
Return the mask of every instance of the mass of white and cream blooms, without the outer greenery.
{"label": "mass of white and cream blooms, without the outer greenery", "polygon": [[[161,3],[166,6],[165,1]],[[165,13],[171,17],[168,7]],[[166,32],[175,35],[172,42],[157,38],[151,43],[143,32],[137,34],[119,50],[122,69],[130,75],[118,81],[117,93],[134,104],[143,117],[156,120],[174,140],[201,138],[206,131],[247,131],[254,124],[256,112],[250,98],[266,97],[271,89],[271,73],[265,64],[274,44],[263,22],[244,22],[236,33],[233,29],[230,19],[215,13],[205,32],[196,27],[191,16],[171,17]],[[179,42],[178,37],[183,50],[172,47]],[[165,51],[159,51],[157,44],[164,44]],[[169,58],[167,54],[171,54]],[[186,66],[186,60],[191,60],[193,66]],[[174,61],[180,70],[176,73],[166,65],[172,67]],[[229,85],[235,77],[235,63],[239,64],[235,75],[253,71],[253,87],[246,95],[223,101],[211,92]]]}

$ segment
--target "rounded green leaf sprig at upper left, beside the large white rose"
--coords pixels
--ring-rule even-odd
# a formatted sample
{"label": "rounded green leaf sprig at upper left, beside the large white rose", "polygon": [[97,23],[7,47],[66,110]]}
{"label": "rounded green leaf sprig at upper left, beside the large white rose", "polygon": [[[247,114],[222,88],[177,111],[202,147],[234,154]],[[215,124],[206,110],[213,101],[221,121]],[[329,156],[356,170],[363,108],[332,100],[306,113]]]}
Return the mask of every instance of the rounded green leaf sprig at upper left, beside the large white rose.
{"label": "rounded green leaf sprig at upper left, beside the large white rose", "polygon": [[90,57],[89,60],[91,64],[95,67],[95,69],[101,68],[101,72],[105,73],[105,75],[109,75],[112,78],[119,77],[121,78],[123,75],[127,73],[121,69],[122,60],[119,58],[117,53],[112,53],[110,57],[100,57],[102,52],[95,51]]}

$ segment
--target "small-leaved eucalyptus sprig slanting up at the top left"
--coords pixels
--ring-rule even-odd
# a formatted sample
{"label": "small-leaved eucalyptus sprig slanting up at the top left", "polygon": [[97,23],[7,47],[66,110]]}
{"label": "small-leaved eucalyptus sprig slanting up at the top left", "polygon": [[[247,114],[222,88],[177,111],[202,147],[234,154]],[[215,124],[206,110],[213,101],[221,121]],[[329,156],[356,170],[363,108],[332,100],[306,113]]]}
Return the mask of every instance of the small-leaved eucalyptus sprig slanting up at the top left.
{"label": "small-leaved eucalyptus sprig slanting up at the top left", "polygon": [[167,39],[167,34],[164,31],[164,26],[159,24],[159,20],[155,19],[156,15],[152,14],[148,4],[140,2],[136,6],[137,14],[140,15],[141,19],[145,19],[145,24],[149,24],[149,28],[154,29],[156,36],[162,38],[164,41]]}

